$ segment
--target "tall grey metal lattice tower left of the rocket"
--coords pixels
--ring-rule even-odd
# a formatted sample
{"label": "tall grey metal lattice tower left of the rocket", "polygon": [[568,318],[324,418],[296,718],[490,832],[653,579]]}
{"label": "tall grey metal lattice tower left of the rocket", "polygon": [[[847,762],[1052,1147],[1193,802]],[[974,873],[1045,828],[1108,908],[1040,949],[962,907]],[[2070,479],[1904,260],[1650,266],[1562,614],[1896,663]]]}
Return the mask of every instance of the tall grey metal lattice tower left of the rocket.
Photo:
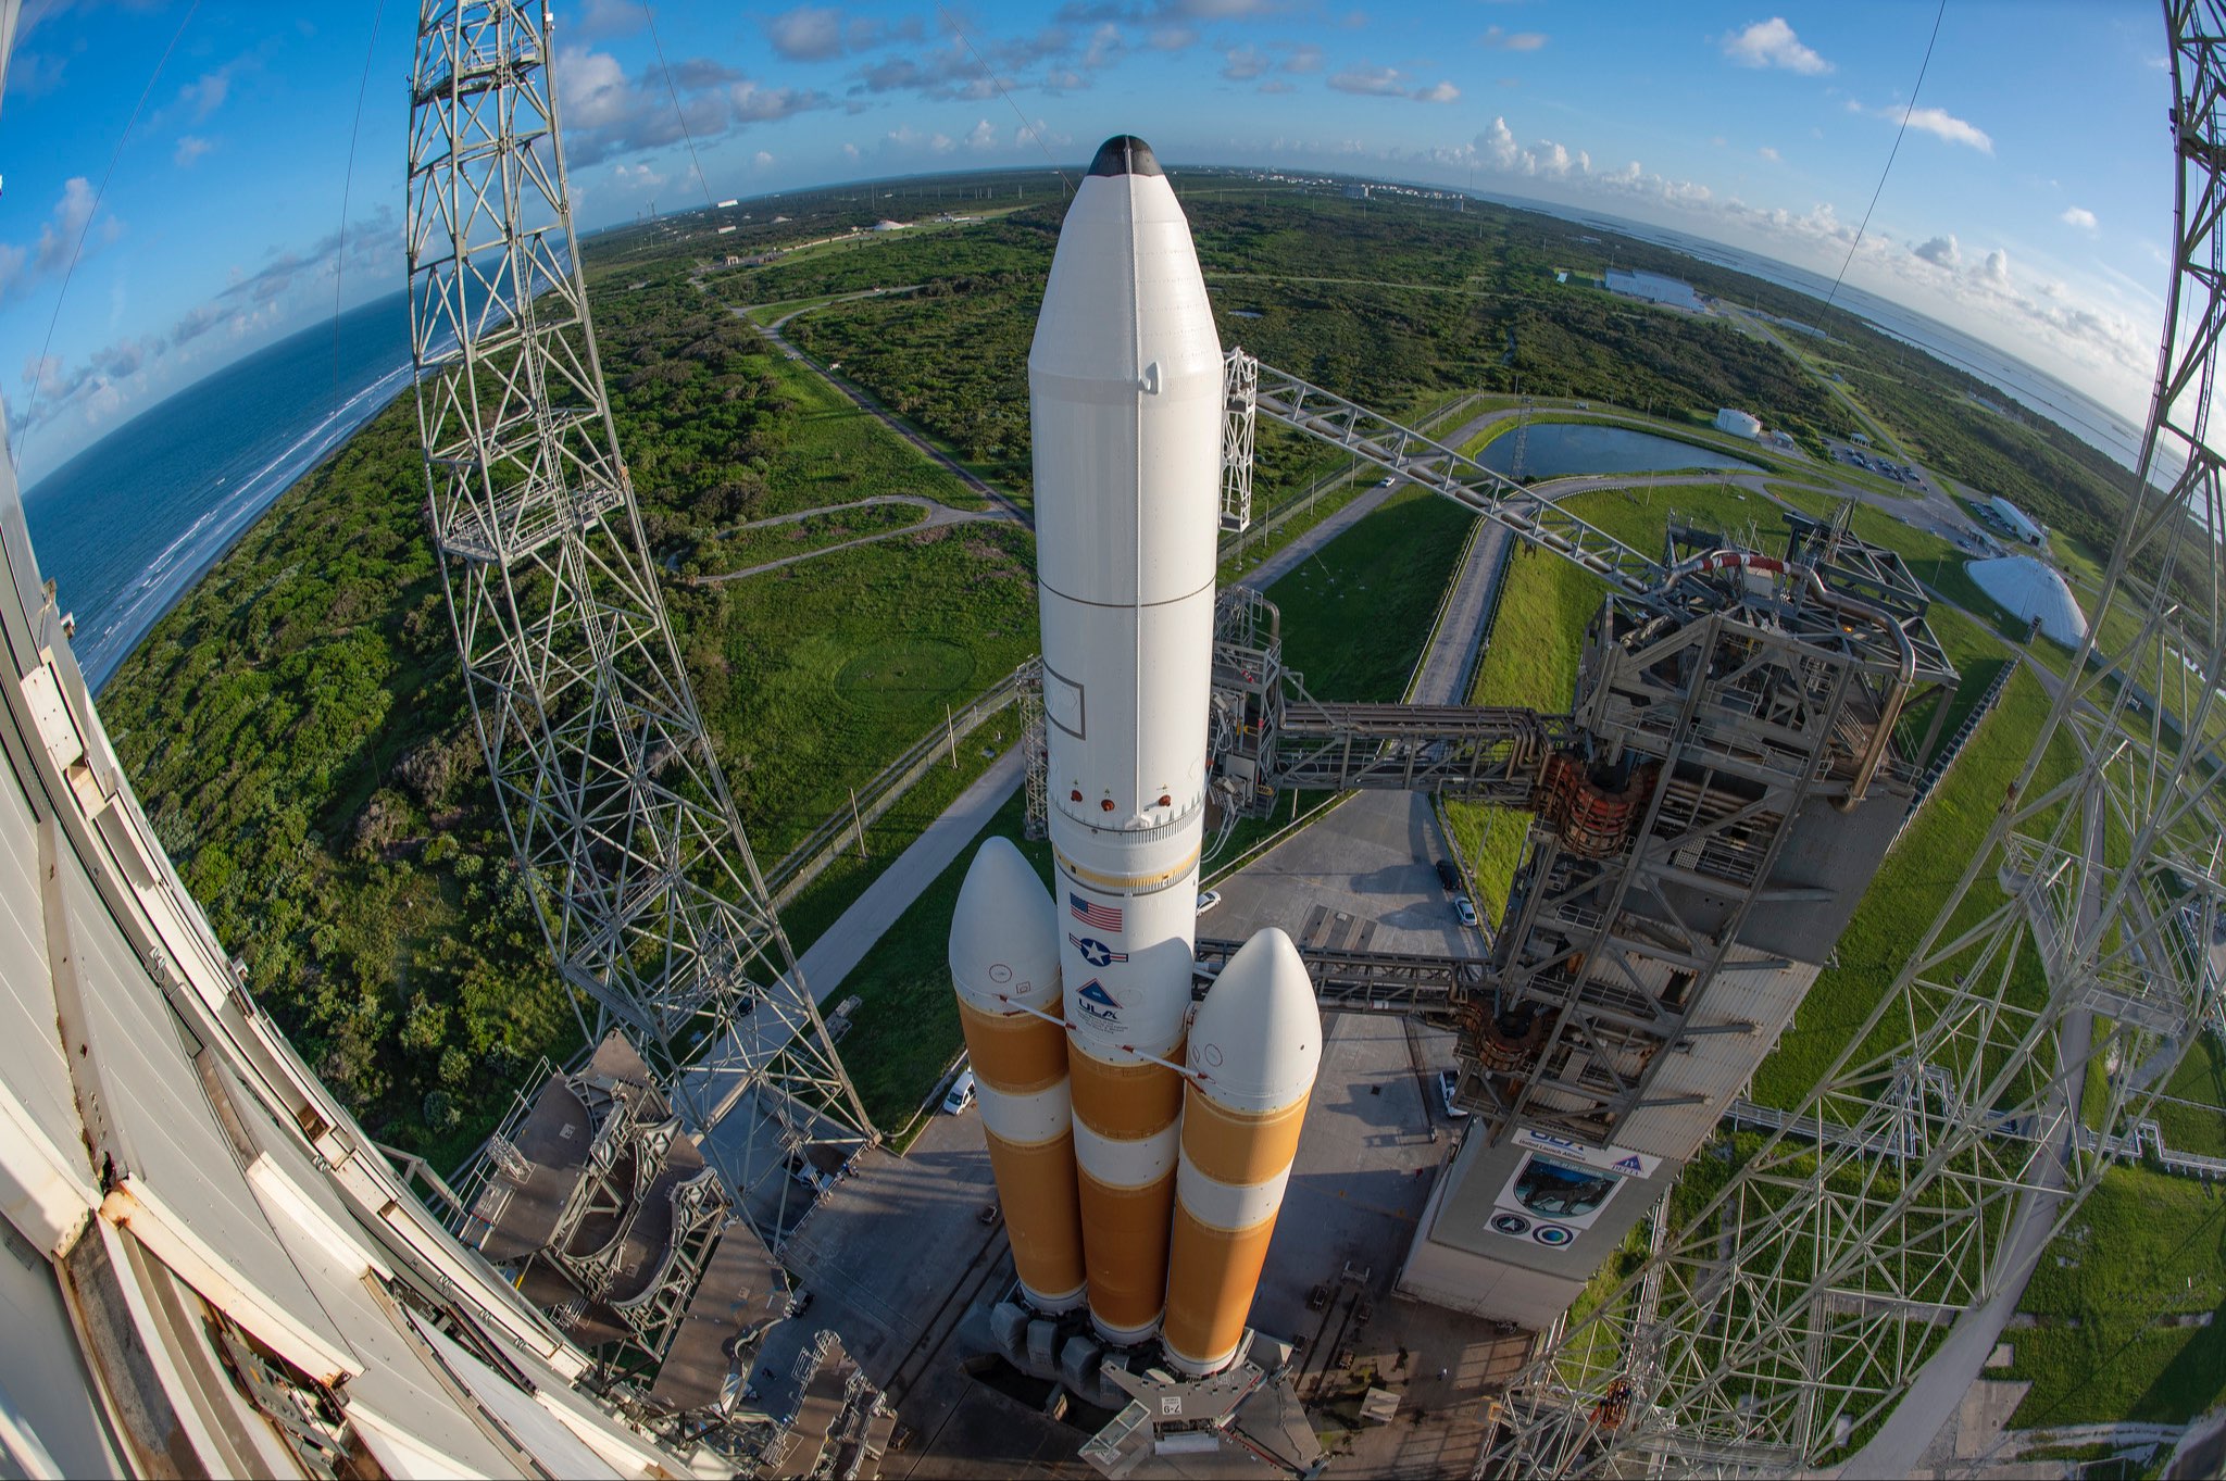
{"label": "tall grey metal lattice tower left of the rocket", "polygon": [[746,1112],[717,1161],[779,1225],[784,1159],[873,1127],[666,620],[588,320],[550,56],[545,4],[421,0],[407,249],[427,518],[556,967],[674,1079],[690,1125]]}

